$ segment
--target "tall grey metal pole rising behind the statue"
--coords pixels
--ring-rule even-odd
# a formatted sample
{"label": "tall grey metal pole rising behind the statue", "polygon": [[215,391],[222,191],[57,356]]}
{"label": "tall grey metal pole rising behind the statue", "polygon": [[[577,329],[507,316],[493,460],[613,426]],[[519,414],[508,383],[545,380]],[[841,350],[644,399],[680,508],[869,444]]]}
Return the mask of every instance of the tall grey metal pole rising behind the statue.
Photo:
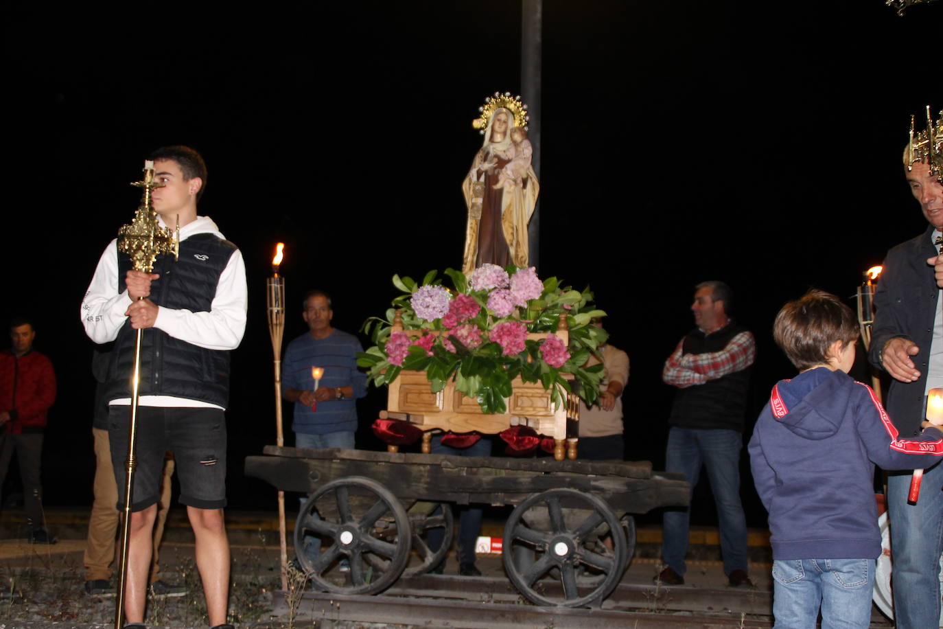
{"label": "tall grey metal pole rising behind the statue", "polygon": [[[534,145],[531,166],[540,179],[540,84],[543,44],[543,0],[521,0],[521,100],[527,103],[530,124],[527,137]],[[540,201],[527,225],[530,251],[527,259],[538,266],[540,257]]]}

